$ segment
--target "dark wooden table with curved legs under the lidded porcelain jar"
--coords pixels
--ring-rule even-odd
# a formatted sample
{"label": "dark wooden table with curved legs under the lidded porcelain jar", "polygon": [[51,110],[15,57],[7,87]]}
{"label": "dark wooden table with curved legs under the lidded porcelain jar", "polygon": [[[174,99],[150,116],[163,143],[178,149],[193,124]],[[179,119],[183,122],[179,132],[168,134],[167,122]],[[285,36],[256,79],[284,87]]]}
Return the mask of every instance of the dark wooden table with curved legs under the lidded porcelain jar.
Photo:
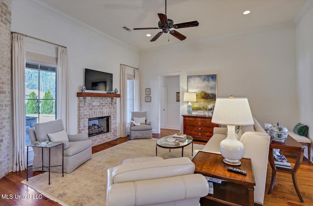
{"label": "dark wooden table with curved legs under the lidded porcelain jar", "polygon": [[[276,149],[283,149],[284,151],[292,151],[297,153],[297,159],[295,161],[295,164],[293,168],[288,169],[288,168],[282,168],[282,167],[276,167],[274,163],[274,157],[273,157],[273,148]],[[268,152],[268,160],[270,167],[272,168],[272,177],[270,181],[270,186],[269,186],[269,191],[268,194],[270,194],[274,188],[275,180],[276,180],[276,172],[285,172],[285,173],[290,173],[292,176],[292,182],[294,189],[302,203],[304,203],[302,196],[300,194],[299,188],[298,188],[298,183],[297,183],[297,170],[299,169],[302,160],[303,160],[303,152],[304,152],[304,146],[300,143],[298,143],[295,139],[293,139],[291,136],[288,135],[287,139],[285,142],[280,143],[280,142],[275,142],[271,140],[269,144],[269,152]]]}

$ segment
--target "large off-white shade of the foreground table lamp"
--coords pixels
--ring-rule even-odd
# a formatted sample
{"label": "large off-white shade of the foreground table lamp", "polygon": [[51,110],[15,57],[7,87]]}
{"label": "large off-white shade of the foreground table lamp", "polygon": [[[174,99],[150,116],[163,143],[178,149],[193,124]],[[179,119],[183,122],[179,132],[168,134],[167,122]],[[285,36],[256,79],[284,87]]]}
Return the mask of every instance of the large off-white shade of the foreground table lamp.
{"label": "large off-white shade of the foreground table lamp", "polygon": [[254,124],[247,98],[217,98],[212,123],[224,125]]}

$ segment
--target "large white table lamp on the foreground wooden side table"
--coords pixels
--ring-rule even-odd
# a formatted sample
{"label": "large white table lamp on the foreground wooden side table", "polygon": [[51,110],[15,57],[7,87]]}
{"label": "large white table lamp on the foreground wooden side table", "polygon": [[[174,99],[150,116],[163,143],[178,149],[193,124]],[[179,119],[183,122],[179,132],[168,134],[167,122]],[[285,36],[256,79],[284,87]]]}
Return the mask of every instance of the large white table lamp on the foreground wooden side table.
{"label": "large white table lamp on the foreground wooden side table", "polygon": [[235,137],[236,125],[254,124],[247,98],[217,98],[212,123],[227,125],[227,137],[220,143],[220,152],[227,165],[241,165],[245,147]]}

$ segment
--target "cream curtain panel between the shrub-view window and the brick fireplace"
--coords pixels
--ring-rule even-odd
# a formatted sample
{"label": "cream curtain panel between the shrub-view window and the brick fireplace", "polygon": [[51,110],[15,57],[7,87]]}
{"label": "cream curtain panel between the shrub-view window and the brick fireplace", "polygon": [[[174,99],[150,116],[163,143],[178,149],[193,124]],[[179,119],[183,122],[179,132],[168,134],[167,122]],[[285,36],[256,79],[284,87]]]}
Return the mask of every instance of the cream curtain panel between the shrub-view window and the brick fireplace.
{"label": "cream curtain panel between the shrub-view window and the brick fireplace", "polygon": [[68,66],[67,48],[58,48],[58,71],[57,71],[57,119],[61,119],[64,128],[68,130]]}

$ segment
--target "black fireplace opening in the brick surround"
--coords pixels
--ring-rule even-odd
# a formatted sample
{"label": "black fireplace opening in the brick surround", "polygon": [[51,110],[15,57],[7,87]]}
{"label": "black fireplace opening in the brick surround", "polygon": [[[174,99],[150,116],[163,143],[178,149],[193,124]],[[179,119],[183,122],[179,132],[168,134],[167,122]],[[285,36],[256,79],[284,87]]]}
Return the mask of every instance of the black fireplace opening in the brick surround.
{"label": "black fireplace opening in the brick surround", "polygon": [[109,132],[110,116],[88,119],[88,136],[92,137]]}

